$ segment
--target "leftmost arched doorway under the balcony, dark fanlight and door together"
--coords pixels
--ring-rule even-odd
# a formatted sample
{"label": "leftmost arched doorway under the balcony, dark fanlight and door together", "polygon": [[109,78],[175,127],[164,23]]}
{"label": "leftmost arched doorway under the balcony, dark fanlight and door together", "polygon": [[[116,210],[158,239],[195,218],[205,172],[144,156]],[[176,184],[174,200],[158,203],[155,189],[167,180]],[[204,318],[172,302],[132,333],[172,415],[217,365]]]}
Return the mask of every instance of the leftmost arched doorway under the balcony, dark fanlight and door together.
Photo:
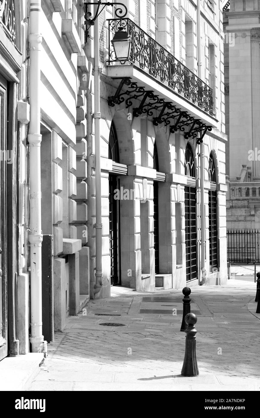
{"label": "leftmost arched doorway under the balcony, dark fanlight and door together", "polygon": [[[119,146],[114,122],[109,133],[109,159],[119,163]],[[109,252],[111,285],[121,284],[120,277],[120,200],[116,200],[115,190],[120,190],[119,178],[109,174]]]}

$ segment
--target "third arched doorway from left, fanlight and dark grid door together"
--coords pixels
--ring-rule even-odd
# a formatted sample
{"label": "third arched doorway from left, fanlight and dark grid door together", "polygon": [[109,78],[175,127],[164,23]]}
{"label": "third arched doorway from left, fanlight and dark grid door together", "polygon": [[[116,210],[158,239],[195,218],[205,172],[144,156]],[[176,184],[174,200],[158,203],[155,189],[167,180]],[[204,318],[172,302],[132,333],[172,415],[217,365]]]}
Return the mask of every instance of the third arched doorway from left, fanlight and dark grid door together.
{"label": "third arched doorway from left, fanlight and dark grid door together", "polygon": [[[196,171],[192,147],[189,143],[185,151],[185,176],[190,178],[185,186],[185,247],[186,247],[186,280],[197,278],[197,226],[196,226]],[[193,181],[194,179],[194,181]]]}

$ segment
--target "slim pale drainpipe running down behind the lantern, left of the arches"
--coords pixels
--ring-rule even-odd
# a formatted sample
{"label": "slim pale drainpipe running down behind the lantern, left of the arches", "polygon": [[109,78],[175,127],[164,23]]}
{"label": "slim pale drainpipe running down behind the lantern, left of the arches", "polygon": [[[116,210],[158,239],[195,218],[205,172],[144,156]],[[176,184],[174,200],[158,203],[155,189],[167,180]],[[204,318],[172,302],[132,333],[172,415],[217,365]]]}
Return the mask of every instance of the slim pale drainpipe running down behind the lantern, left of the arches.
{"label": "slim pale drainpipe running down behind the lantern, left of the arches", "polygon": [[[97,6],[94,6],[94,14]],[[96,186],[96,284],[94,295],[102,288],[102,219],[101,219],[101,168],[100,168],[100,76],[99,76],[99,18],[94,25],[94,123],[95,123],[95,186]]]}

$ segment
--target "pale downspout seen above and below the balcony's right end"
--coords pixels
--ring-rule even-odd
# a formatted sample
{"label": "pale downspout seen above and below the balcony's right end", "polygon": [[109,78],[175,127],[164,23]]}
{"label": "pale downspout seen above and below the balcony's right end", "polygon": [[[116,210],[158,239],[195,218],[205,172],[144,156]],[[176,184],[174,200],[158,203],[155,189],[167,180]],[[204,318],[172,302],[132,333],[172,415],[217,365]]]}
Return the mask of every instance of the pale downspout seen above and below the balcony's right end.
{"label": "pale downspout seen above and below the balcony's right end", "polygon": [[[197,0],[197,54],[198,54],[198,77],[201,79],[202,75],[202,61],[201,61],[201,38],[200,38],[200,0]],[[198,139],[200,134],[198,135]],[[205,270],[205,209],[204,209],[204,144],[200,143],[200,224],[201,224],[201,275],[202,280],[200,285],[207,282],[207,273]]]}

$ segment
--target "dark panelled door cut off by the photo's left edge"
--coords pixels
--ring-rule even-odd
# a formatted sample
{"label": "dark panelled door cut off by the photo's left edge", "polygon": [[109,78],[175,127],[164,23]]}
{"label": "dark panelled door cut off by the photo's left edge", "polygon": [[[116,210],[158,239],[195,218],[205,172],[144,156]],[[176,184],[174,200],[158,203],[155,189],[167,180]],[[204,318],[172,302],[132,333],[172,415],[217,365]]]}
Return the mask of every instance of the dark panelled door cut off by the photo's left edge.
{"label": "dark panelled door cut off by the photo's left edge", "polygon": [[[6,92],[7,86],[0,83],[0,360],[8,354],[7,328],[7,271],[6,271]],[[12,208],[11,208],[12,210]]]}

